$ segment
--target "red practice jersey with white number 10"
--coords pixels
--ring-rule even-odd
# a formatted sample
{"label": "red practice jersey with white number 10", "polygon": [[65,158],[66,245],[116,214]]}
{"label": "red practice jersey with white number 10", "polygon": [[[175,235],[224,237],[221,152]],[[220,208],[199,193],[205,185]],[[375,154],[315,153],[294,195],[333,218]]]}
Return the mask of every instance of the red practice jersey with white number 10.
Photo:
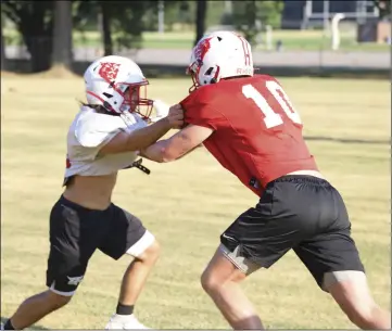
{"label": "red practice jersey with white number 10", "polygon": [[210,153],[258,196],[278,177],[317,170],[300,115],[274,77],[220,80],[180,104],[187,124],[214,130],[204,141]]}

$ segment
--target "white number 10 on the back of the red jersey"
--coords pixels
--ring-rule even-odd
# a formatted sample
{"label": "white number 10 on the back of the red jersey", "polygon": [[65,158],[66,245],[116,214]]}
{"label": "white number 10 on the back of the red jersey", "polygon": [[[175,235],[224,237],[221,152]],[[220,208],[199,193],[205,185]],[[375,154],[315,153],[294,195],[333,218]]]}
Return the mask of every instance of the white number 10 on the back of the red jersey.
{"label": "white number 10 on the back of the red jersey", "polygon": [[[278,101],[279,105],[284,111],[286,115],[293,123],[302,124],[299,113],[296,113],[296,111],[294,110],[293,105],[291,104],[291,102],[289,100],[289,97],[286,94],[286,92],[283,91],[281,86],[274,80],[268,80],[268,81],[266,81],[266,88],[274,96],[276,101]],[[281,94],[279,92],[283,97],[281,97]],[[265,98],[262,96],[262,93],[258,92],[253,85],[251,85],[251,84],[244,85],[242,87],[242,93],[248,99],[252,99],[254,101],[254,103],[263,112],[263,114],[265,116],[264,122],[268,129],[283,124],[283,119],[281,118],[281,116],[274,112],[271,106],[268,104],[267,100],[265,100]]]}

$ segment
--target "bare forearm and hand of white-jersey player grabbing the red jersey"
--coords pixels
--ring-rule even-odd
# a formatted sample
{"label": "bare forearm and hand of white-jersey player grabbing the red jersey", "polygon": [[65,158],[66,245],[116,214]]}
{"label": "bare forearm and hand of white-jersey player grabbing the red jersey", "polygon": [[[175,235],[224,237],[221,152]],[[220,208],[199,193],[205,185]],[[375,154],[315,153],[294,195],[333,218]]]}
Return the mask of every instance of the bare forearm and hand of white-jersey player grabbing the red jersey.
{"label": "bare forearm and hand of white-jersey player grabbing the red jersey", "polygon": [[167,133],[169,129],[178,129],[184,125],[184,112],[180,106],[172,106],[166,117],[130,132],[119,132],[100,150],[100,154],[114,154],[139,151]]}

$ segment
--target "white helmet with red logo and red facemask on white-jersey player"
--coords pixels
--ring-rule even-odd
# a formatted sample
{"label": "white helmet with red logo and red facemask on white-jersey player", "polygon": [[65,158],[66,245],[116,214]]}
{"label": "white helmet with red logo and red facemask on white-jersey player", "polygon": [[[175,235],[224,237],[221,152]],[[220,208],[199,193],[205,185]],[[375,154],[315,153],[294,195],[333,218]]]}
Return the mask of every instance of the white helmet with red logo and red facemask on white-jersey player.
{"label": "white helmet with red logo and red facemask on white-jersey player", "polygon": [[[153,101],[147,99],[146,79],[140,67],[130,59],[109,55],[96,60],[86,69],[86,97],[89,104],[99,104],[109,112],[135,112],[149,118]],[[144,88],[141,97],[141,88]],[[143,112],[141,111],[143,106]]]}

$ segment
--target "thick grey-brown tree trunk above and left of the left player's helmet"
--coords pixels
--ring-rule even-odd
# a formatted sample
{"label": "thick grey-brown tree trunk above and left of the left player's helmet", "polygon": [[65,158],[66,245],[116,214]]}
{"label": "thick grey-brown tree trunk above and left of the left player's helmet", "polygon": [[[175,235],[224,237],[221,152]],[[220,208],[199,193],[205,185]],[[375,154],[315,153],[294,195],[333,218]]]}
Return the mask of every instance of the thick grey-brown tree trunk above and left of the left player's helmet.
{"label": "thick grey-brown tree trunk above and left of the left player's helmet", "polygon": [[52,65],[71,69],[72,54],[72,1],[56,0],[54,5]]}

